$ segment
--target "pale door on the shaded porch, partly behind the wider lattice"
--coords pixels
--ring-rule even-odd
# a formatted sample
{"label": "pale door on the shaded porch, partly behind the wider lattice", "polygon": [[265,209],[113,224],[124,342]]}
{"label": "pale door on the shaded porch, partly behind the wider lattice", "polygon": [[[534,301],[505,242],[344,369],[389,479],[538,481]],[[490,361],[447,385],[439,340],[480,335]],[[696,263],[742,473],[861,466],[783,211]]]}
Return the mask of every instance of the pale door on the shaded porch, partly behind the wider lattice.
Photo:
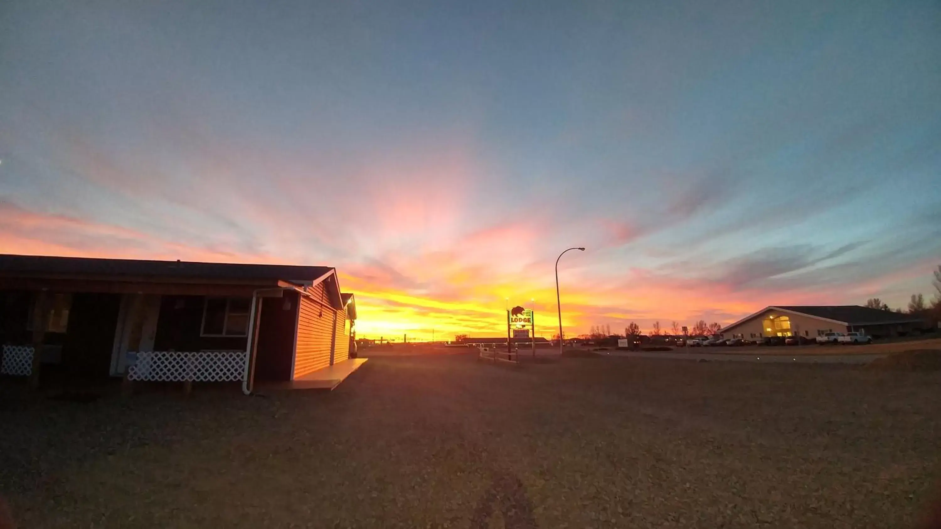
{"label": "pale door on the shaded porch, partly behind the wider lattice", "polygon": [[111,375],[123,376],[127,352],[153,350],[160,317],[159,294],[124,294],[121,296],[118,327],[111,354]]}

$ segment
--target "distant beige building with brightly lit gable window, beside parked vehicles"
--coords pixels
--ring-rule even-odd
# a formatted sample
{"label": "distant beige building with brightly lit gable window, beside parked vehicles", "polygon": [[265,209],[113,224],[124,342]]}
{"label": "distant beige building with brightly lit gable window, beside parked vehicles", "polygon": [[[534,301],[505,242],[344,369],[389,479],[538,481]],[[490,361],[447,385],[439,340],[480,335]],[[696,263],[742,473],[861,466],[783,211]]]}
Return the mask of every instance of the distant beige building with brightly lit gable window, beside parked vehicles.
{"label": "distant beige building with brightly lit gable window, beside parked vehicles", "polygon": [[720,333],[733,338],[804,336],[860,332],[875,338],[907,335],[924,325],[911,315],[859,305],[767,306]]}

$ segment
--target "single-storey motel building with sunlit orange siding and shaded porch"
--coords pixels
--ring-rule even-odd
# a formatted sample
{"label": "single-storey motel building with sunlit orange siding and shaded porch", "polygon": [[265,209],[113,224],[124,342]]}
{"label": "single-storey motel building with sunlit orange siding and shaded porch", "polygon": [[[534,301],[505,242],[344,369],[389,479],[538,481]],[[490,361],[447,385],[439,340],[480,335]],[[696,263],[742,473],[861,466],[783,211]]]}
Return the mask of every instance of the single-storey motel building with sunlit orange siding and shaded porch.
{"label": "single-storey motel building with sunlit orange siding and shaded porch", "polygon": [[356,316],[330,267],[0,255],[0,375],[36,385],[332,389],[363,362]]}

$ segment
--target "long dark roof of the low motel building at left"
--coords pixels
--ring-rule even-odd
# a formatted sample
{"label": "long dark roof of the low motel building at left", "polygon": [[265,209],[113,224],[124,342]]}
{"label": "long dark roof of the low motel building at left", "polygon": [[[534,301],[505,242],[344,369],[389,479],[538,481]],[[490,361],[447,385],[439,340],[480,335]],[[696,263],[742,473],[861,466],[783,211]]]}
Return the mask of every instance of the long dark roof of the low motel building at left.
{"label": "long dark roof of the low motel building at left", "polygon": [[331,267],[327,266],[202,263],[193,261],[14,256],[0,254],[0,276],[44,276],[55,274],[314,281],[332,270]]}

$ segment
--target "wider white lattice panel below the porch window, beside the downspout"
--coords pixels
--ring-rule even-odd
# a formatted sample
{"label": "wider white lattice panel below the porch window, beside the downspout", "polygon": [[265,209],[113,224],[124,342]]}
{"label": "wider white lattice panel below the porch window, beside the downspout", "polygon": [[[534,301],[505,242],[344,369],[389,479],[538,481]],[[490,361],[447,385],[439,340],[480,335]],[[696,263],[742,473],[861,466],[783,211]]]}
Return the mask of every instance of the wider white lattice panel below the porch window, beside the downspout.
{"label": "wider white lattice panel below the porch window, beside the downspout", "polygon": [[127,378],[167,382],[241,381],[245,374],[245,354],[239,350],[129,352]]}

